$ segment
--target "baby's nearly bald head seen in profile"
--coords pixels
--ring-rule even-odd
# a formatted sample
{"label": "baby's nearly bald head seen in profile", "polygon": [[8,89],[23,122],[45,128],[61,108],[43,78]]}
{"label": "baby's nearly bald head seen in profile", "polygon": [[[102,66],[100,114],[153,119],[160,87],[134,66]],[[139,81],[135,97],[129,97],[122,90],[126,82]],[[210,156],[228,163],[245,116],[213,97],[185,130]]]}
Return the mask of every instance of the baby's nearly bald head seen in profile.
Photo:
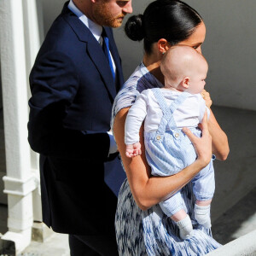
{"label": "baby's nearly bald head seen in profile", "polygon": [[165,87],[189,93],[201,93],[206,84],[208,64],[194,48],[173,46],[163,56],[160,69],[165,76]]}

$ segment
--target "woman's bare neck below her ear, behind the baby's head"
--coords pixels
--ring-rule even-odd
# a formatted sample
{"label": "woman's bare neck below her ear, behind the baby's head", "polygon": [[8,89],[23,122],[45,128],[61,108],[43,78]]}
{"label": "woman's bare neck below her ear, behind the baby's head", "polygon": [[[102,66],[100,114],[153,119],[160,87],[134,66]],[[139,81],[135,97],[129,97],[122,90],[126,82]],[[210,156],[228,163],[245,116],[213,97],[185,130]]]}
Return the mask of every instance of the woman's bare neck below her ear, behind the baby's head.
{"label": "woman's bare neck below her ear, behind the baby's head", "polygon": [[160,55],[159,54],[144,54],[143,63],[145,67],[148,68],[148,71],[154,75],[156,79],[160,81],[161,84],[165,83],[163,74],[160,71]]}

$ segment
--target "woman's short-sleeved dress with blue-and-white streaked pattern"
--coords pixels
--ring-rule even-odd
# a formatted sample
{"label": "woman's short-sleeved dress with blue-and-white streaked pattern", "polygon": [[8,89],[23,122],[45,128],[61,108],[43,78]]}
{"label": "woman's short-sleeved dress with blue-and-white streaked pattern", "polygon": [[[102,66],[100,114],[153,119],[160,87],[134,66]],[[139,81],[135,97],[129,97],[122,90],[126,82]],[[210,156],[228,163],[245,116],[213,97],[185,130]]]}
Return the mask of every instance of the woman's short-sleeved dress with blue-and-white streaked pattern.
{"label": "woman's short-sleeved dress with blue-and-white streaked pattern", "polygon": [[[119,91],[113,103],[113,119],[122,108],[131,107],[137,96],[146,89],[163,87],[147,67],[139,65]],[[205,255],[220,247],[212,238],[210,229],[197,224],[194,217],[195,195],[192,183],[181,189],[186,212],[194,226],[194,236],[188,240],[179,238],[177,225],[168,218],[159,205],[142,211],[131,195],[127,179],[119,191],[115,217],[116,238],[120,256],[194,256]]]}

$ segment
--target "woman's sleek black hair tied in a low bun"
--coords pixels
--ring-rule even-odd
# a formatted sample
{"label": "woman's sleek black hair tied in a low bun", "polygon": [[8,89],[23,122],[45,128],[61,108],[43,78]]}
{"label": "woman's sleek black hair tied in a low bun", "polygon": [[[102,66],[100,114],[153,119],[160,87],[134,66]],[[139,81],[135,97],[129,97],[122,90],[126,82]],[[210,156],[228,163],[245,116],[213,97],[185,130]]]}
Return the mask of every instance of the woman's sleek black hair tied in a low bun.
{"label": "woman's sleek black hair tied in a low bun", "polygon": [[125,34],[133,41],[144,38],[144,49],[151,53],[152,44],[165,38],[175,45],[189,38],[202,21],[195,9],[179,0],[156,0],[143,15],[131,16],[125,24]]}

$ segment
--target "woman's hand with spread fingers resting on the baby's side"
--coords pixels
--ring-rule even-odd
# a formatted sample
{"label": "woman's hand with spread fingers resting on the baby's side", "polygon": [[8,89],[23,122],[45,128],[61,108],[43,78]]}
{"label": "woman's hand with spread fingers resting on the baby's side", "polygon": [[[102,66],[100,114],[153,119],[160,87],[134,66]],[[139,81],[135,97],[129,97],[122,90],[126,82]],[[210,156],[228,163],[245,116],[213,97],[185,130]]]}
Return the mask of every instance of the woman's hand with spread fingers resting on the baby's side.
{"label": "woman's hand with spread fingers resting on the baby's side", "polygon": [[195,147],[197,161],[201,163],[202,167],[205,167],[212,159],[212,137],[208,130],[207,111],[199,126],[202,132],[201,137],[196,137],[188,128],[183,128],[183,132],[189,137]]}

